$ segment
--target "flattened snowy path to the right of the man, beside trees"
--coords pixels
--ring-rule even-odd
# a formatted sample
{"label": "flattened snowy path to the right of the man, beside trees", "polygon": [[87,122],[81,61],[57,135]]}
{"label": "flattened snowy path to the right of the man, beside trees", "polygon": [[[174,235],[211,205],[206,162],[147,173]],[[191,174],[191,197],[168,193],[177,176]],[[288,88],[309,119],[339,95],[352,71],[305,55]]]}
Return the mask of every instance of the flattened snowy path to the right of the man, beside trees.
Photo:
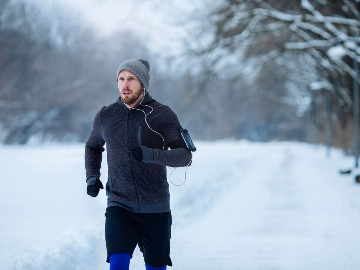
{"label": "flattened snowy path to the right of the man, beside trees", "polygon": [[253,150],[211,211],[175,236],[188,258],[176,269],[359,269],[359,188],[339,164],[304,145]]}

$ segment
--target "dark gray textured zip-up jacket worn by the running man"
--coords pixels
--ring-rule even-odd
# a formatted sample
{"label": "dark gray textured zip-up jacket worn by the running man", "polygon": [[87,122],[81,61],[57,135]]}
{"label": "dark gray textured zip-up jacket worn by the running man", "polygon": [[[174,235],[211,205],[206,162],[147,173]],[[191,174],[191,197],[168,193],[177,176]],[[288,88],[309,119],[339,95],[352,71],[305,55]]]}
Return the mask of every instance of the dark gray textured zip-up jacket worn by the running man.
{"label": "dark gray textured zip-up jacket worn by the running man", "polygon": [[[154,110],[145,123],[142,111],[128,109],[121,101],[104,106],[96,113],[93,130],[85,144],[85,169],[87,185],[100,178],[102,152],[106,143],[108,180],[105,186],[108,206],[121,206],[137,213],[170,211],[170,193],[166,166],[184,167],[192,158],[186,149],[179,130],[182,129],[176,114],[166,105],[147,93],[141,102]],[[134,107],[149,113],[151,108]],[[153,162],[138,162],[128,151],[137,145],[153,149]],[[169,147],[171,150],[168,150]],[[191,163],[189,164],[189,166]]]}

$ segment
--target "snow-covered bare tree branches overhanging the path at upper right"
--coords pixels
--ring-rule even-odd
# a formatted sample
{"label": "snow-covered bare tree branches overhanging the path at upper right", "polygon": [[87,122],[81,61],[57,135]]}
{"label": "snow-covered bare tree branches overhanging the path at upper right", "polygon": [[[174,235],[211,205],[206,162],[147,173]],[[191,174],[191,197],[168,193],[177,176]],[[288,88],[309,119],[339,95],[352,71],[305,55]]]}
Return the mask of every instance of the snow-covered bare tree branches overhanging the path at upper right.
{"label": "snow-covered bare tree branches overhanging the path at upper right", "polygon": [[[329,99],[330,113],[337,115],[333,119],[342,119],[345,125],[353,106],[353,81],[360,84],[353,67],[353,59],[360,62],[360,0],[227,0],[207,1],[205,6],[210,12],[198,16],[193,55],[220,71],[231,63],[229,74],[238,78],[254,63],[253,73],[268,80],[266,89],[257,89],[259,95],[266,97],[271,91],[272,100],[276,96],[286,104],[297,104],[300,111],[308,106],[305,110],[315,109],[320,116],[326,106],[330,108],[325,106]],[[274,55],[270,62],[279,67],[275,69],[285,80],[281,87],[288,89],[287,95],[279,85],[269,89],[272,78],[259,71],[269,55]],[[328,92],[318,91],[319,87]],[[306,101],[309,96],[316,106]]]}

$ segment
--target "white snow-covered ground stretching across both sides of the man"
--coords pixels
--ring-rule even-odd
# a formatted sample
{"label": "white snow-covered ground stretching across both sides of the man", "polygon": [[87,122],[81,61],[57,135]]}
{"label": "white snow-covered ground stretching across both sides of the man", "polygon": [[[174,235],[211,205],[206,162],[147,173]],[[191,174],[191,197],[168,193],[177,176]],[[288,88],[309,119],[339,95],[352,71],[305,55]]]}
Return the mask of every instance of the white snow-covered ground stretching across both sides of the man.
{"label": "white snow-covered ground stretching across both sides of the man", "polygon": [[[195,145],[185,184],[170,184],[168,269],[360,269],[360,185],[338,174],[351,157],[295,142]],[[84,144],[0,153],[0,268],[108,269],[106,196],[86,194]],[[105,184],[105,153],[101,172]],[[185,168],[170,176],[184,179]],[[145,269],[138,248],[130,269]]]}

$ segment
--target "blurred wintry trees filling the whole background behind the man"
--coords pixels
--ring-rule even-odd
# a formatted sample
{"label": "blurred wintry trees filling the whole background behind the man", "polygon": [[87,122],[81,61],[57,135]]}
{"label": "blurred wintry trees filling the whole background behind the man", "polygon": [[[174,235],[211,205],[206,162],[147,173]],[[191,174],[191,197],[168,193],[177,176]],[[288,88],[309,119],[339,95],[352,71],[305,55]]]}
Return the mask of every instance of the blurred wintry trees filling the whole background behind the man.
{"label": "blurred wintry trees filling the whole background behind the man", "polygon": [[118,97],[118,65],[141,57],[150,95],[194,139],[325,143],[330,129],[332,145],[352,149],[359,0],[151,3],[173,10],[184,35],[166,34],[180,49],[154,54],[129,30],[99,38],[60,4],[0,0],[0,141],[85,141],[95,113]]}

